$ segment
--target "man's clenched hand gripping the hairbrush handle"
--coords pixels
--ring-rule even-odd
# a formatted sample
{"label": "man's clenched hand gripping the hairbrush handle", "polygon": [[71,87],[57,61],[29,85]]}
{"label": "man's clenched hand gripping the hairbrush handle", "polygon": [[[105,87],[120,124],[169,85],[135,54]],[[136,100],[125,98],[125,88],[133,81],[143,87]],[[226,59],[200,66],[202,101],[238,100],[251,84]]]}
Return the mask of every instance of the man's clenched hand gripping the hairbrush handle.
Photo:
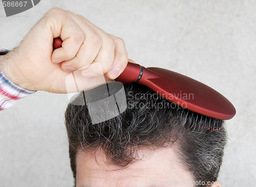
{"label": "man's clenched hand gripping the hairbrush handle", "polygon": [[[53,51],[57,37],[62,47]],[[1,71],[19,87],[66,93],[66,78],[76,69],[87,79],[100,74],[95,62],[108,78],[118,77],[127,64],[127,52],[122,39],[81,15],[53,8],[0,60]]]}

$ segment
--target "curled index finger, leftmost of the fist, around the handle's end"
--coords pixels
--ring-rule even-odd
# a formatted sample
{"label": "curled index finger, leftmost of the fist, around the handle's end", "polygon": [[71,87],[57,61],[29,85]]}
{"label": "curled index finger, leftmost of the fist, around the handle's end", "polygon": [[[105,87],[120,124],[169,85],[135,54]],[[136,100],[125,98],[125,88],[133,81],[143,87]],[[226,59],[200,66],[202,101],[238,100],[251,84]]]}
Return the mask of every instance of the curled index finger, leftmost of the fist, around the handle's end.
{"label": "curled index finger, leftmost of the fist, around the handle's end", "polygon": [[52,62],[58,63],[70,60],[75,57],[82,42],[84,41],[84,33],[70,15],[58,8],[48,11],[52,20],[49,22],[52,29],[53,37],[62,39],[62,47],[54,50],[52,54]]}

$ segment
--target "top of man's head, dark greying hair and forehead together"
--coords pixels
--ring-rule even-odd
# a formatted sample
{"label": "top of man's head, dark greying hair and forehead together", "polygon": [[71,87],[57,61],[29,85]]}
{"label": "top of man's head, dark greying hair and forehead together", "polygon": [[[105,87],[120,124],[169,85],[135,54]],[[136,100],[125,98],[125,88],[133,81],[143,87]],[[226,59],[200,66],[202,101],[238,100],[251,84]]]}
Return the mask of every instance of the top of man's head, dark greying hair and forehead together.
{"label": "top of man's head, dark greying hair and forehead together", "polygon": [[91,123],[86,105],[68,105],[77,187],[210,186],[217,180],[226,133],[202,128],[215,119],[178,107],[139,84],[124,89],[127,109],[99,124]]}

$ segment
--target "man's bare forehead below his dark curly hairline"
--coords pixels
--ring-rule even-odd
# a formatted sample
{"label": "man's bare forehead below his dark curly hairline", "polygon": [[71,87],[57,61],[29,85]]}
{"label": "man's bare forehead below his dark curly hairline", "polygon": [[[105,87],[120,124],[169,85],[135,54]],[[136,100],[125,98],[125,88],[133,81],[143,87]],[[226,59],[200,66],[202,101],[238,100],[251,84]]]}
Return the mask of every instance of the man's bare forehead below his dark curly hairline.
{"label": "man's bare forehead below his dark curly hairline", "polygon": [[191,180],[173,148],[147,153],[125,169],[108,165],[100,151],[78,152],[76,170],[76,187],[160,187],[175,180]]}

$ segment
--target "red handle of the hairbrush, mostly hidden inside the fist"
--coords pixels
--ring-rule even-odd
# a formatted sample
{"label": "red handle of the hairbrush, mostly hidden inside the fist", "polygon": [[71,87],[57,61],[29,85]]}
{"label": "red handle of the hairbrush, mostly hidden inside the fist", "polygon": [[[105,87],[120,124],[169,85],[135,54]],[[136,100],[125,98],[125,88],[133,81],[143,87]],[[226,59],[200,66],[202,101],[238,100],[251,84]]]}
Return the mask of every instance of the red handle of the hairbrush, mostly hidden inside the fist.
{"label": "red handle of the hairbrush, mostly hidden inside the fist", "polygon": [[[61,48],[62,40],[60,38],[53,39],[53,49]],[[130,82],[138,82],[142,77],[143,67],[139,64],[128,62],[124,71],[115,80],[123,84]],[[136,81],[137,80],[137,81]]]}

